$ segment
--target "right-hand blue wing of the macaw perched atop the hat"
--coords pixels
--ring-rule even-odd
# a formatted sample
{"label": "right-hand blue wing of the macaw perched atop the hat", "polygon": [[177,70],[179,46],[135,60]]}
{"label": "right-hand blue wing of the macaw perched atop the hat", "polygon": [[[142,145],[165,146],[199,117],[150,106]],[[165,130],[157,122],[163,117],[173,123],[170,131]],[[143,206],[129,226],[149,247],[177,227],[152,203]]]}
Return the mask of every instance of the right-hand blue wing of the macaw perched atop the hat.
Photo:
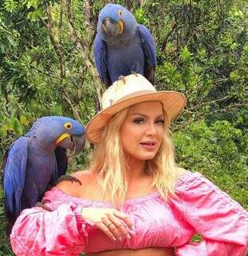
{"label": "right-hand blue wing of the macaw perched atop the hat", "polygon": [[155,44],[150,31],[143,25],[138,25],[138,32],[144,52],[144,77],[154,84],[155,75]]}

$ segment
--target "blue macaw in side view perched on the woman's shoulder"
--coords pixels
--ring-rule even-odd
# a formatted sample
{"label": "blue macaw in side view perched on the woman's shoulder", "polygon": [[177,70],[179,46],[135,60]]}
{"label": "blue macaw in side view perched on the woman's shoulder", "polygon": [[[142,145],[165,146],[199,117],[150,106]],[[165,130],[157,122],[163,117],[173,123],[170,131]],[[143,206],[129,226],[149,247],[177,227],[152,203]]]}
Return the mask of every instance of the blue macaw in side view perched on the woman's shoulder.
{"label": "blue macaw in side view perched on the woman's shoulder", "polygon": [[72,118],[37,119],[29,132],[7,150],[3,189],[7,233],[23,209],[35,206],[67,169],[66,150],[78,154],[85,146],[85,127]]}

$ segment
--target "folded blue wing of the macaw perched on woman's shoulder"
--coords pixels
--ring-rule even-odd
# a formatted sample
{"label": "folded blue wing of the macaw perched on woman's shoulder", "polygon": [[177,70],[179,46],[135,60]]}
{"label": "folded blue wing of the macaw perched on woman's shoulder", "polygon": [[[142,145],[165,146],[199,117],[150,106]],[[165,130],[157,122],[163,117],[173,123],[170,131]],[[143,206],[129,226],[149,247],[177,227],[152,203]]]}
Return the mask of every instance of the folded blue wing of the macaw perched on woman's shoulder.
{"label": "folded blue wing of the macaw perched on woman's shoulder", "polygon": [[3,188],[7,217],[21,213],[21,196],[25,184],[29,138],[21,137],[6,152],[3,169]]}

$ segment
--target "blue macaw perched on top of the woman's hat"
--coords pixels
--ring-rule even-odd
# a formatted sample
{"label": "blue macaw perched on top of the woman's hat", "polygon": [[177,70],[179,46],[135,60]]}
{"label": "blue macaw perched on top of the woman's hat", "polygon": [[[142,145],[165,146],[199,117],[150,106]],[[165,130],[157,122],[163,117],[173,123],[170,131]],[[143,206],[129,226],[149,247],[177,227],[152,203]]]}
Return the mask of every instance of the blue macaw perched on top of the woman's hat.
{"label": "blue macaw perched on top of the woman's hat", "polygon": [[152,34],[136,22],[130,11],[117,4],[104,6],[96,30],[94,58],[105,86],[132,71],[154,83],[156,57]]}

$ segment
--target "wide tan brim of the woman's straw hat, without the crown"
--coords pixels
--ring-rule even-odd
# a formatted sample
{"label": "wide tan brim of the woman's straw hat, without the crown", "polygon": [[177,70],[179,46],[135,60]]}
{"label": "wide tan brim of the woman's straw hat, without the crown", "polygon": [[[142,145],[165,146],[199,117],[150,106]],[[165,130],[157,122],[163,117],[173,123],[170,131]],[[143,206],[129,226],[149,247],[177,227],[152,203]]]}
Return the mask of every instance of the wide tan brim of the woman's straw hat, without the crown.
{"label": "wide tan brim of the woman's straw hat, without the crown", "polygon": [[86,126],[86,138],[90,142],[98,143],[101,130],[114,114],[140,102],[161,102],[163,109],[167,113],[167,117],[172,121],[183,110],[184,106],[186,106],[187,98],[183,94],[171,90],[139,94],[131,98],[128,97],[96,114]]}

